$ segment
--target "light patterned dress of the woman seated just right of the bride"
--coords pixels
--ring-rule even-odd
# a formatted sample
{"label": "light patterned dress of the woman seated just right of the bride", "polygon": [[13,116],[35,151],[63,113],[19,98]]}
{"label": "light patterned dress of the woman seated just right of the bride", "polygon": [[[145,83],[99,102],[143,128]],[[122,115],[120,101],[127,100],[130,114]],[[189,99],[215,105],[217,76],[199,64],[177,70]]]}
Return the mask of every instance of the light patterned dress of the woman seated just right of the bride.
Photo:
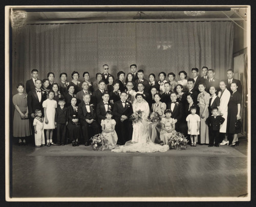
{"label": "light patterned dress of the woman seated just right of the bride", "polygon": [[[160,118],[165,117],[164,111],[166,110],[166,104],[163,102],[159,102],[159,104],[154,103],[152,105],[152,111],[158,113]],[[150,123],[150,138],[152,142],[160,143],[160,132],[161,132],[161,122],[156,121]]]}

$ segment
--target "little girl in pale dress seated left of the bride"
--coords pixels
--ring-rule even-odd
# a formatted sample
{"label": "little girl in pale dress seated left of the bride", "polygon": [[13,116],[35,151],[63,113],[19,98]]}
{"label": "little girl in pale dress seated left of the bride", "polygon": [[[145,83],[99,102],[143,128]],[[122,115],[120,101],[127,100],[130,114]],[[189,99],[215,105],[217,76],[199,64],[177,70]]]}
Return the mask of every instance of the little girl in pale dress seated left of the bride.
{"label": "little girl in pale dress seated left of the bride", "polygon": [[116,121],[112,119],[112,112],[106,111],[106,119],[101,120],[102,135],[108,139],[108,145],[105,149],[113,149],[117,143],[117,134],[115,131]]}

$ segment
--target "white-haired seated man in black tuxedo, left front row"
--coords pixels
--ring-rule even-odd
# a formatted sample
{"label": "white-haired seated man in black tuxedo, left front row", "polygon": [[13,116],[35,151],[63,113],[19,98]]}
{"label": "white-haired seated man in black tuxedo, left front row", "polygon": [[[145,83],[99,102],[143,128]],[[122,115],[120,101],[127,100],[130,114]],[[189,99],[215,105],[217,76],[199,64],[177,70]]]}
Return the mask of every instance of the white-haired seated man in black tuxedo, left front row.
{"label": "white-haired seated man in black tuxedo, left front row", "polygon": [[84,145],[90,145],[90,132],[93,131],[94,135],[99,134],[99,125],[96,121],[96,112],[93,105],[90,105],[90,94],[83,95],[83,102],[78,105],[78,118],[81,122],[82,135],[84,138]]}

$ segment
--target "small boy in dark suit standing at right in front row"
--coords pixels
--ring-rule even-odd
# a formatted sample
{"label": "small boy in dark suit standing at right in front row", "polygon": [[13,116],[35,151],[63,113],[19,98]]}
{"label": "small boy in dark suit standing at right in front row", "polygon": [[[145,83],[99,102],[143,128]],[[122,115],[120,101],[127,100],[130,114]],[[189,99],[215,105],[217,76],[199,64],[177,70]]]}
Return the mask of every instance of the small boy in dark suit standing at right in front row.
{"label": "small boy in dark suit standing at right in front row", "polygon": [[[217,107],[212,108],[212,115],[206,119],[206,124],[209,127],[209,145],[208,147],[219,147],[220,125],[223,124],[225,119],[218,115],[219,110]],[[215,144],[214,144],[215,141]]]}

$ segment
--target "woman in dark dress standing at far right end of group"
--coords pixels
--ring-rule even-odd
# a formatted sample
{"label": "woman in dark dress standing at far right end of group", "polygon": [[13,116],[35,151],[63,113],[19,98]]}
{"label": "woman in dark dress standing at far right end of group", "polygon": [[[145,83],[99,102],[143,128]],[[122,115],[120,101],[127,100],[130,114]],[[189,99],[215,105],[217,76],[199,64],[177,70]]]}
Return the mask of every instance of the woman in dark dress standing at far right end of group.
{"label": "woman in dark dress standing at far right end of group", "polygon": [[238,141],[238,132],[236,131],[236,121],[241,119],[241,104],[242,104],[242,95],[237,91],[237,83],[232,82],[230,85],[232,94],[228,102],[228,111],[227,111],[227,135],[229,146],[239,145]]}

